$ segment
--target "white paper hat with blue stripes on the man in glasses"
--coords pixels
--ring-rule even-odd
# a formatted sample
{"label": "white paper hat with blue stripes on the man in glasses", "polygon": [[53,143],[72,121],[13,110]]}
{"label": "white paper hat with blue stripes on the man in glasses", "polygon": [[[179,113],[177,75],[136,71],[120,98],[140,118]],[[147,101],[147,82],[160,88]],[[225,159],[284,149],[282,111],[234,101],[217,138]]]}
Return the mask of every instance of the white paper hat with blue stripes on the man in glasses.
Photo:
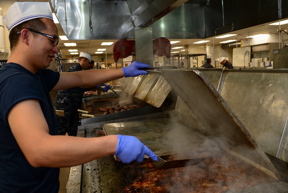
{"label": "white paper hat with blue stripes on the man in glasses", "polygon": [[53,20],[49,2],[15,2],[3,17],[10,32],[13,27],[35,18],[49,18]]}

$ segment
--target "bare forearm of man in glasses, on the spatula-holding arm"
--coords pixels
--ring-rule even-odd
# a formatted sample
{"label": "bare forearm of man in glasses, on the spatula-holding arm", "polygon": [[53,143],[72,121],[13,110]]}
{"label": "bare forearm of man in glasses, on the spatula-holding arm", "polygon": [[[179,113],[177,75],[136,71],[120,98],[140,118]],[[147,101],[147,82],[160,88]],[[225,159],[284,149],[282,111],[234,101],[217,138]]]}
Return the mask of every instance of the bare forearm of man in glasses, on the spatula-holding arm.
{"label": "bare forearm of man in glasses, on the spatula-holding arm", "polygon": [[37,167],[71,167],[115,154],[117,135],[82,138],[48,136],[39,145]]}

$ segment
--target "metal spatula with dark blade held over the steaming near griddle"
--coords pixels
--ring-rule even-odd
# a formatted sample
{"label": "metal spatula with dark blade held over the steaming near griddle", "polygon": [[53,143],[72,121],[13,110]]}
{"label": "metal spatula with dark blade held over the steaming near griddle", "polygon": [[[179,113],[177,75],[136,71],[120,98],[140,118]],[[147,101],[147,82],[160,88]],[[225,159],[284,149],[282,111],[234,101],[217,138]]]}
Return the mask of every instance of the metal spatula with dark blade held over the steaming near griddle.
{"label": "metal spatula with dark blade held over the steaming near griddle", "polygon": [[[144,156],[144,158],[147,158],[147,157],[148,156],[146,155]],[[199,164],[200,162],[204,160],[204,158],[192,158],[192,159],[184,159],[184,160],[165,161],[159,156],[157,156],[157,158],[158,158],[158,161],[152,160],[154,164],[156,165],[157,169],[170,169],[170,168],[193,166],[193,165]]]}

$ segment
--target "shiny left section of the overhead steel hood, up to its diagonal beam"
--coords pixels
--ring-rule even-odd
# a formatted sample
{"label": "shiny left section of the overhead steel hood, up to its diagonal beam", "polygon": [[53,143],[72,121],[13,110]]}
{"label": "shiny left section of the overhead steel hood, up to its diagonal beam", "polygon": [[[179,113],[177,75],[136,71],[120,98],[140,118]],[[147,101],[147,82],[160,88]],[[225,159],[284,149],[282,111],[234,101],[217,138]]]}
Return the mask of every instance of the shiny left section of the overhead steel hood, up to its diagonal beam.
{"label": "shiny left section of the overhead steel hood, up to its diagonal beam", "polygon": [[[187,0],[50,0],[70,40],[127,39],[135,27],[148,27]],[[90,30],[91,21],[93,31]]]}

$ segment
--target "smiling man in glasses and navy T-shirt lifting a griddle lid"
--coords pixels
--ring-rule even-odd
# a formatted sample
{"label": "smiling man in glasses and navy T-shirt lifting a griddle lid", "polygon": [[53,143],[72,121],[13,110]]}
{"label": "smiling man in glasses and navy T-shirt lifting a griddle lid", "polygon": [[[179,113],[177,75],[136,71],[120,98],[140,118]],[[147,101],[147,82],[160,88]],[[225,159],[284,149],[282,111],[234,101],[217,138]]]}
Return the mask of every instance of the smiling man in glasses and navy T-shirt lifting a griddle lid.
{"label": "smiling man in glasses and navy T-shirt lifting a griddle lid", "polygon": [[[149,65],[134,61],[122,69],[59,73],[47,69],[58,53],[59,37],[50,3],[16,2],[3,20],[10,32],[11,49],[0,69],[1,192],[58,193],[60,167],[78,166],[112,154],[124,163],[141,162],[145,154],[158,160],[133,136],[58,135],[49,93],[147,74],[139,68]],[[90,57],[84,56],[86,60]]]}

